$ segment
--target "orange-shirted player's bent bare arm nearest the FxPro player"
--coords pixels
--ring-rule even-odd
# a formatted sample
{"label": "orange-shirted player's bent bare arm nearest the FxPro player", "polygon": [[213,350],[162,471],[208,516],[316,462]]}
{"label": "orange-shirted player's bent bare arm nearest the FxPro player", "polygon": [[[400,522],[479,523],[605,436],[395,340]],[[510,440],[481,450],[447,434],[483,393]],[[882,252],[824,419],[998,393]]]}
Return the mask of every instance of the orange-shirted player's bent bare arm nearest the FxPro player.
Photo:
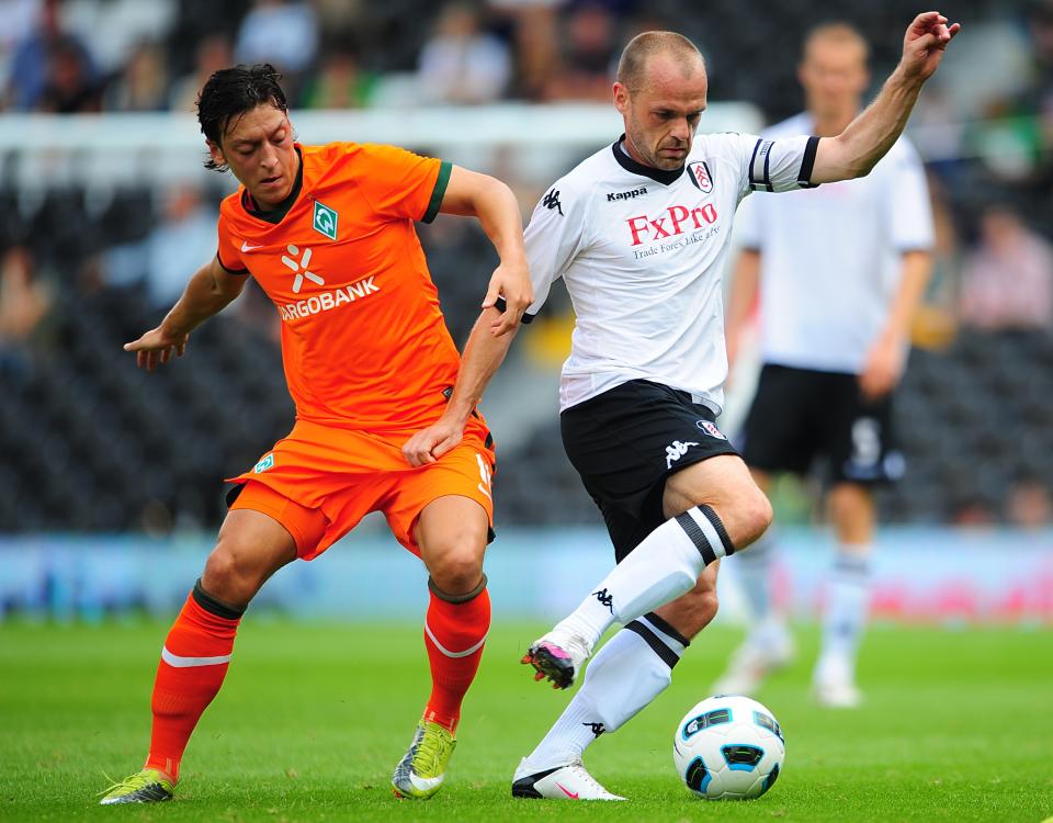
{"label": "orange-shirted player's bent bare arm nearest the FxPro player", "polygon": [[494,318],[490,331],[500,336],[516,328],[534,294],[523,247],[523,218],[512,190],[496,178],[454,166],[439,211],[478,218],[501,259],[483,301],[486,309],[497,305],[498,297],[505,298],[505,311]]}

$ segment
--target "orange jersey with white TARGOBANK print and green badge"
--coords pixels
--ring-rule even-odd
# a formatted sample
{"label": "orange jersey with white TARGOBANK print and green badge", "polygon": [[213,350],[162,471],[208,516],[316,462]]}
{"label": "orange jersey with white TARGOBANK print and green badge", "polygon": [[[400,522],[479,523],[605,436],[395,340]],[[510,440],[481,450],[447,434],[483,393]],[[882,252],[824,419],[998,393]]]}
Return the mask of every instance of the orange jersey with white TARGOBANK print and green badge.
{"label": "orange jersey with white TARGOBANK print and green badge", "polygon": [[223,201],[219,262],[251,273],[278,307],[297,419],[373,431],[434,422],[460,356],[414,222],[434,218],[450,165],[392,146],[296,148],[294,202],[278,223],[244,189]]}

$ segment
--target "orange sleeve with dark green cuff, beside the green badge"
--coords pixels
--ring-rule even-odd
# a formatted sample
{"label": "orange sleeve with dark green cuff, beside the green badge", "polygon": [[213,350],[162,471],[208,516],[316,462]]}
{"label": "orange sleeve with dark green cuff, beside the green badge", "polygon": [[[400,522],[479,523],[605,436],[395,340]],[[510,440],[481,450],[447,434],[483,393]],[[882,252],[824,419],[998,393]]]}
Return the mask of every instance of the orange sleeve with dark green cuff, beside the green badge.
{"label": "orange sleeve with dark green cuff, beside the green badge", "polygon": [[423,223],[435,218],[451,164],[395,146],[365,145],[361,151],[362,192],[377,214]]}

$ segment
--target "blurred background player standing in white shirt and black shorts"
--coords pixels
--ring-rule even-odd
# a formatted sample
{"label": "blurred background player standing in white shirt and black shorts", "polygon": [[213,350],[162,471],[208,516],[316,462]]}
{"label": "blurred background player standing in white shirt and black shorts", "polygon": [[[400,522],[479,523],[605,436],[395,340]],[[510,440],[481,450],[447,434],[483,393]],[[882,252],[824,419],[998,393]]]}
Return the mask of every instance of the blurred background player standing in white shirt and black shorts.
{"label": "blurred background player standing in white shirt and black shorts", "polygon": [[[814,30],[799,69],[807,111],[765,136],[839,134],[859,114],[867,55],[867,42],[848,25]],[[759,288],[763,363],[743,458],[765,492],[773,472],[803,474],[817,456],[827,463],[838,549],[814,687],[819,702],[852,707],[860,701],[854,673],[869,595],[871,487],[903,472],[892,391],[931,270],[921,162],[901,137],[865,178],[755,199],[740,215],[738,237],[744,251],[727,312],[728,360],[734,365]],[[752,622],[717,692],[751,694],[792,657],[790,634],[771,607],[771,543],[769,532],[735,561]]]}

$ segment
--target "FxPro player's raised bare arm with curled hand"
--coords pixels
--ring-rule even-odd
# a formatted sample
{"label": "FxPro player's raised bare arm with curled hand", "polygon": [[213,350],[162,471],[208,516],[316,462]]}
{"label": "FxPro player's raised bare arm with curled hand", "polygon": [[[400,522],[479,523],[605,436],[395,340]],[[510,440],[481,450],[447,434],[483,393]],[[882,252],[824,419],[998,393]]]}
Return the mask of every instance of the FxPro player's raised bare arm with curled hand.
{"label": "FxPro player's raised bare arm with curled hand", "polygon": [[903,40],[903,57],[881,93],[836,137],[819,140],[813,183],[864,177],[903,134],[925,81],[943,59],[943,50],[961,31],[938,11],[918,14]]}

